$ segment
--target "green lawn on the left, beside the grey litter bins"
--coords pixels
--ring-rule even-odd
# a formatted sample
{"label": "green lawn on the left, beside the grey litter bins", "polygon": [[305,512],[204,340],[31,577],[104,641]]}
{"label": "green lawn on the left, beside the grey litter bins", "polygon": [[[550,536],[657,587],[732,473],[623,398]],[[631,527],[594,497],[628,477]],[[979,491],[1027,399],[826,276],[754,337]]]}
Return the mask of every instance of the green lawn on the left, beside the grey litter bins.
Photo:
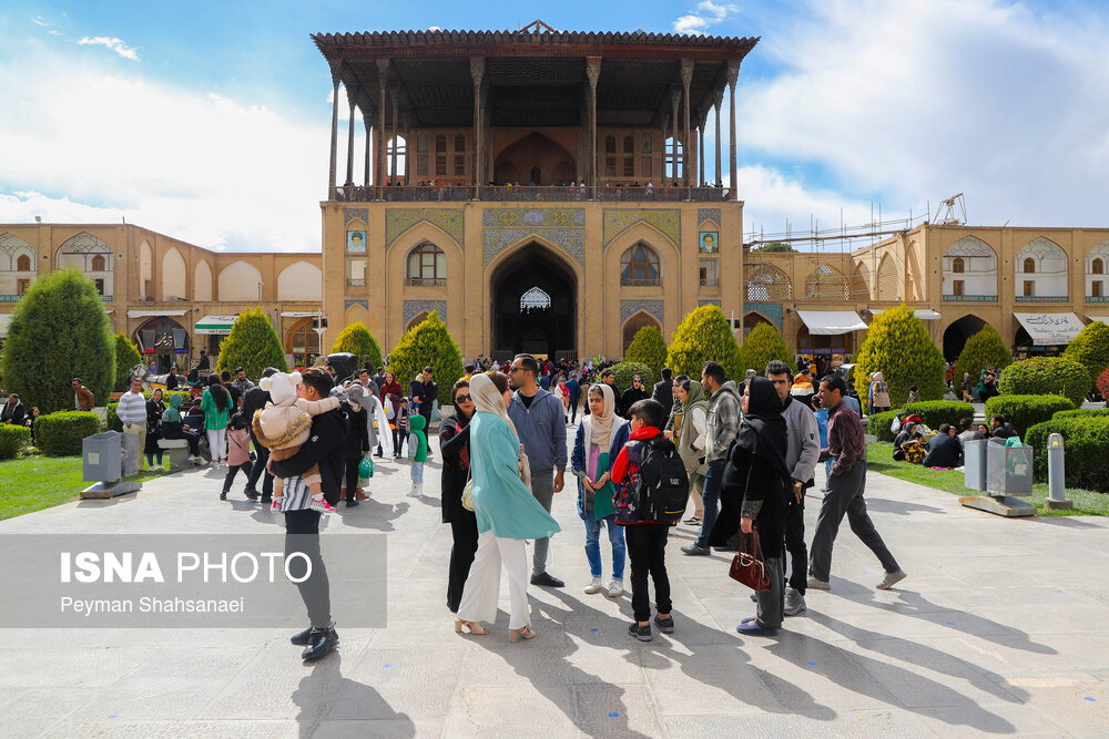
{"label": "green lawn on the left, beside the grey litter bins", "polygon": [[[160,478],[147,472],[128,480]],[[80,456],[29,455],[0,462],[0,521],[77,500],[92,483],[81,476]]]}

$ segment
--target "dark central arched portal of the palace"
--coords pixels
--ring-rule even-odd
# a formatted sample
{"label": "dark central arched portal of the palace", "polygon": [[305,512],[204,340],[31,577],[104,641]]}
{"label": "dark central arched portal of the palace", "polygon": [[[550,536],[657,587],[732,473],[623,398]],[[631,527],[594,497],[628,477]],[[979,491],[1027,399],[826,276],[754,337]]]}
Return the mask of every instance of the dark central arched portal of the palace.
{"label": "dark central arched portal of the palace", "polygon": [[489,287],[495,358],[578,356],[578,280],[560,256],[529,244],[494,270]]}

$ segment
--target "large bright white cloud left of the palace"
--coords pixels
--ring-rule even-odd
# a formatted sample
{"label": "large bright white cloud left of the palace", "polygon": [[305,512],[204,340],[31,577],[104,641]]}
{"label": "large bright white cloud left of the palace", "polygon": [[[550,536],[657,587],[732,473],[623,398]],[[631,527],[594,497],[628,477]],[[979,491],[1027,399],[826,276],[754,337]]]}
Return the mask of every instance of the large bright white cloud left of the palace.
{"label": "large bright white cloud left of the palace", "polygon": [[48,53],[0,63],[0,99],[21,101],[0,125],[0,222],[125,216],[211,248],[319,248],[326,125]]}

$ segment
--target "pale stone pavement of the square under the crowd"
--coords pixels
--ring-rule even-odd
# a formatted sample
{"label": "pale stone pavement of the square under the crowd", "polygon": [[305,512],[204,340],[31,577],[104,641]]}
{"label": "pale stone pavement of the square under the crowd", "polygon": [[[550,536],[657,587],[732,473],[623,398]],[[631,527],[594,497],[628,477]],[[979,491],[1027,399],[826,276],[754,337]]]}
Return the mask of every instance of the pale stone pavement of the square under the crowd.
{"label": "pale stone pavement of the square under the crowd", "polygon": [[[385,462],[362,506],[326,535],[388,534],[389,625],[337,624],[337,654],[302,665],[267,629],[8,629],[0,735],[220,737],[1105,736],[1109,729],[1109,520],[1004,520],[948,493],[879,474],[868,507],[909,577],[881,592],[877,562],[844,524],[832,593],[777,638],[741,638],[749,592],[729,556],[668,547],[676,632],[640,644],[629,597],[584,595],[574,493],[550,572],[530,588],[529,643],[459,636],[444,604],[449,527],[438,462],[424,499],[406,462]],[[190,471],[138,495],[0,522],[4,532],[256,532],[279,517],[216,500],[222,471]],[[808,538],[818,510],[810,499]],[[608,552],[602,537],[602,553]],[[7,563],[9,566],[12,563]],[[608,573],[606,573],[608,574]],[[4,597],[13,594],[6,593]]]}

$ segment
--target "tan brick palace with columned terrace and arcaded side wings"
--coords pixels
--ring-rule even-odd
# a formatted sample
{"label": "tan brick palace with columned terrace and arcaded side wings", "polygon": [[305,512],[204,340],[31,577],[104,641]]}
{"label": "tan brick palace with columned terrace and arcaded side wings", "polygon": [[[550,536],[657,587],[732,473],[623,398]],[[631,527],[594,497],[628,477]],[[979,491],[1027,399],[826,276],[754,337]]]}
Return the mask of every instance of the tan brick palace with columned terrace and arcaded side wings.
{"label": "tan brick palace with columned terrace and arcaded side wings", "polygon": [[703,305],[741,340],[765,321],[798,355],[844,358],[902,302],[949,359],[987,322],[1027,355],[1109,320],[1109,228],[924,224],[847,254],[746,250],[743,183],[722,184],[736,183],[736,86],[757,39],[540,21],[312,39],[335,93],[319,252],[0,225],[0,338],[30,281],[65,266],[163,369],[216,353],[255,306],[298,366],[358,320],[388,351],[433,310],[464,356],[498,359],[619,357],[641,327],[669,337]]}

